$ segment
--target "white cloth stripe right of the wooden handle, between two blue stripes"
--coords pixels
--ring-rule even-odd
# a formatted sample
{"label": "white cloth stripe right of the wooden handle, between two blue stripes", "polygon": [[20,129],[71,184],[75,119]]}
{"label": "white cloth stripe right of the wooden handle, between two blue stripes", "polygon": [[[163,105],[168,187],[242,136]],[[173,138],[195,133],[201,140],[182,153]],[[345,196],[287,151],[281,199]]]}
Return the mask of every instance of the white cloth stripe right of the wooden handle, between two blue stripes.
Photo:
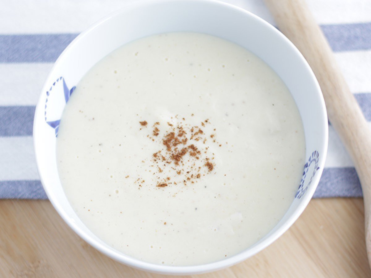
{"label": "white cloth stripe right of the wooden handle, between two blue stripes", "polygon": [[335,58],[352,92],[371,92],[370,50],[335,53]]}

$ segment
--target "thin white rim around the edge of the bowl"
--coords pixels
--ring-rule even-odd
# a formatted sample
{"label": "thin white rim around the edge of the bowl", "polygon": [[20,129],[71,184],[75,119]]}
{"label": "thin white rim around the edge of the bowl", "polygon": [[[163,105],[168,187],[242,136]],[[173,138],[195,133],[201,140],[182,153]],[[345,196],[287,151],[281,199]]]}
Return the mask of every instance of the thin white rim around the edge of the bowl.
{"label": "thin white rim around the edge of the bowl", "polygon": [[[322,156],[322,161],[319,163],[319,170],[318,170],[318,175],[316,175],[311,183],[311,187],[308,189],[306,194],[302,196],[301,202],[299,203],[298,207],[295,209],[295,211],[288,217],[288,219],[282,224],[282,226],[277,229],[277,231],[273,232],[270,236],[265,238],[262,242],[260,242],[257,245],[254,245],[250,247],[247,250],[244,250],[236,255],[233,255],[231,257],[228,257],[226,259],[222,259],[217,262],[211,262],[208,264],[201,264],[201,265],[189,265],[189,266],[170,266],[170,265],[158,265],[158,264],[152,264],[148,262],[141,261],[139,259],[136,259],[134,257],[130,257],[128,255],[123,254],[122,252],[119,251],[113,251],[106,246],[102,245],[101,243],[97,242],[95,239],[93,239],[90,235],[86,234],[83,229],[79,227],[78,224],[73,221],[70,216],[65,212],[65,210],[62,208],[60,205],[59,201],[57,201],[54,193],[49,189],[49,187],[46,185],[43,179],[43,170],[40,169],[39,166],[39,151],[37,148],[37,143],[39,139],[39,134],[38,134],[38,126],[39,122],[37,121],[37,115],[40,113],[40,110],[43,109],[44,105],[44,97],[43,93],[47,90],[47,84],[43,85],[43,89],[41,92],[41,95],[39,97],[39,100],[37,101],[36,105],[36,110],[35,110],[35,118],[34,118],[34,125],[33,125],[33,138],[34,138],[34,149],[35,149],[35,157],[36,157],[36,164],[37,164],[37,169],[40,175],[40,180],[42,182],[43,188],[46,192],[46,195],[49,198],[49,201],[52,203],[58,214],[62,217],[62,219],[69,225],[70,228],[76,234],[78,234],[84,241],[88,242],[90,245],[92,245],[95,249],[99,250],[103,254],[107,255],[108,257],[115,259],[116,261],[122,262],[130,267],[142,269],[145,271],[150,271],[150,272],[155,272],[155,273],[161,273],[161,274],[176,274],[176,275],[186,275],[186,274],[200,274],[200,273],[205,273],[205,272],[210,272],[210,271],[216,271],[222,268],[230,267],[232,265],[235,265],[239,262],[244,261],[245,259],[257,254],[260,252],[262,249],[266,248],[268,245],[272,244],[276,239],[278,239],[284,232],[287,231],[287,229],[292,226],[292,224],[298,219],[298,217],[302,214],[303,210],[306,208],[308,205],[309,201],[311,200],[315,189],[318,185],[319,179],[322,175],[322,171],[324,169],[325,165],[325,160],[326,160],[326,153],[327,153],[327,147],[328,147],[328,119],[327,119],[327,113],[326,113],[326,107],[325,107],[325,102],[322,96],[321,88],[319,87],[318,81],[316,80],[316,77],[314,73],[312,72],[311,67],[309,64],[306,62],[305,58],[302,56],[302,54],[299,52],[299,50],[294,46],[290,40],[283,35],[279,30],[277,30],[274,26],[272,26],[270,23],[267,21],[261,19],[260,17],[256,16],[255,14],[251,13],[250,11],[247,11],[243,8],[234,6],[229,3],[224,3],[221,1],[216,1],[216,0],[142,0],[134,3],[129,3],[122,7],[121,9],[118,9],[107,16],[103,17],[101,20],[96,21],[96,23],[92,24],[88,29],[84,30],[82,33],[80,33],[67,47],[63,52],[60,54],[56,62],[53,64],[52,69],[50,70],[50,73],[47,77],[46,80],[49,80],[50,77],[52,77],[52,73],[54,72],[55,68],[58,67],[58,62],[63,59],[66,55],[68,55],[69,50],[75,46],[83,37],[87,36],[89,33],[91,33],[94,29],[96,29],[98,26],[100,26],[102,23],[104,23],[107,20],[110,20],[116,16],[119,16],[121,13],[130,10],[130,9],[138,9],[143,6],[151,6],[151,5],[158,5],[158,4],[166,4],[166,3],[174,3],[174,2],[179,2],[179,3],[191,3],[193,2],[194,4],[211,4],[211,5],[219,5],[222,6],[224,9],[233,9],[240,11],[245,14],[245,16],[251,17],[253,20],[255,20],[257,23],[262,24],[264,28],[270,29],[271,31],[275,32],[278,34],[278,36],[288,44],[290,47],[291,53],[293,55],[298,56],[301,59],[301,62],[305,65],[306,71],[311,77],[315,87],[316,87],[316,93],[319,94],[319,105],[320,111],[322,113],[322,118],[324,120],[324,138],[322,138],[322,150],[321,151],[321,156]],[[314,93],[314,92],[313,92]]]}

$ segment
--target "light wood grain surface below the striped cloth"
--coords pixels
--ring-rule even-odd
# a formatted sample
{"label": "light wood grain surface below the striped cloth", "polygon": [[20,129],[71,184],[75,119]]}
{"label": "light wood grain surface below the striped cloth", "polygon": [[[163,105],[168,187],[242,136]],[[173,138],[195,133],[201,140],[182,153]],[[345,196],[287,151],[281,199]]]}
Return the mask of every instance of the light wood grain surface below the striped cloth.
{"label": "light wood grain surface below the striped cloth", "polygon": [[[49,201],[0,201],[0,277],[164,277],[86,244]],[[193,277],[371,277],[362,199],[315,199],[276,242],[221,271]]]}

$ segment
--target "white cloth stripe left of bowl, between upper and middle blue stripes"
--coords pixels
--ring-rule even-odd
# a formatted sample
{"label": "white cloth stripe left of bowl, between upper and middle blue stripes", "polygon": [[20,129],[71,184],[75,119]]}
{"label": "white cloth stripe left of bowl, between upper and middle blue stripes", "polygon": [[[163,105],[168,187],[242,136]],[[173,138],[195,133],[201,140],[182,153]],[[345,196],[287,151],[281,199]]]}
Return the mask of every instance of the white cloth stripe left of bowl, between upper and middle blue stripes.
{"label": "white cloth stripe left of bowl, between upper and middle blue stripes", "polygon": [[0,64],[0,105],[36,105],[52,66],[53,64]]}

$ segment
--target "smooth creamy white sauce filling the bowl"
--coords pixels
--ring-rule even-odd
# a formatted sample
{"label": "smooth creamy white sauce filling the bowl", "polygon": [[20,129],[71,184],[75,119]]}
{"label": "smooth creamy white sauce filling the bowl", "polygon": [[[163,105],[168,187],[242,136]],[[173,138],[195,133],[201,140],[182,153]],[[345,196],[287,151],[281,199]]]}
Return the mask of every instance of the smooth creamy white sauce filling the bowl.
{"label": "smooth creamy white sauce filling the bowl", "polygon": [[[180,127],[187,142],[176,147],[187,153],[175,165],[164,140]],[[259,241],[292,203],[304,153],[278,75],[246,49],[196,33],[146,37],[102,59],[76,86],[57,141],[59,176],[83,223],[115,249],[165,265],[218,261]]]}

